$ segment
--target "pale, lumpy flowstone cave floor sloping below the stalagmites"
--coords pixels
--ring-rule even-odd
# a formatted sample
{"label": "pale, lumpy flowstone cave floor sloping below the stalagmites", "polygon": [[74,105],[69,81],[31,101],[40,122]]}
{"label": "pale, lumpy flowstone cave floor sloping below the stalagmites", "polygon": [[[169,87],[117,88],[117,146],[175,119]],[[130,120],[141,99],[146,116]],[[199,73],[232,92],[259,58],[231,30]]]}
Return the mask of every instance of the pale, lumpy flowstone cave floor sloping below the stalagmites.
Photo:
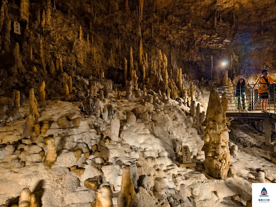
{"label": "pale, lumpy flowstone cave floor sloping below the stalagmites", "polygon": [[[94,98],[94,107],[100,110],[92,115],[81,112],[81,102],[60,101],[62,97],[46,101],[38,108],[40,132],[29,132],[28,139],[22,139],[28,106],[21,107],[13,120],[2,122],[0,204],[18,203],[22,189],[29,188],[38,205],[88,207],[96,190],[110,185],[117,206],[124,166],[131,169],[137,206],[245,206],[251,199],[251,183],[276,182],[270,154],[251,146],[252,135],[238,129],[230,132],[229,142],[238,145],[238,157],[231,156],[228,177],[210,177],[204,170],[203,135],[193,127],[190,109],[172,99],[141,104],[141,98],[147,100],[143,92],[133,94],[135,102],[125,99],[125,91],[121,100],[114,90],[109,99]],[[200,105],[201,112],[206,111],[207,104]],[[118,119],[111,119],[114,115]],[[112,136],[118,141],[111,141]],[[43,162],[45,137],[54,138],[57,151],[51,169]],[[246,139],[249,144],[241,143]],[[196,167],[179,167],[183,145],[189,146]],[[93,179],[96,184],[89,182]]]}

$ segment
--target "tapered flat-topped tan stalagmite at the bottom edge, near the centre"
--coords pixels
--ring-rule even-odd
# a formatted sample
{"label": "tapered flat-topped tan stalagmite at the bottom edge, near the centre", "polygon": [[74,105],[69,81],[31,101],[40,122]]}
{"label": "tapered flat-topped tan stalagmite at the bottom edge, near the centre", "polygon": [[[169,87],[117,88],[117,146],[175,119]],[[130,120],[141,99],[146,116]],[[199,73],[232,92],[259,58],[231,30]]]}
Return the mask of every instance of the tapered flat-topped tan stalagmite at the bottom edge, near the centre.
{"label": "tapered flat-topped tan stalagmite at the bottom edge, near the centre", "polygon": [[123,168],[121,192],[118,197],[118,207],[132,207],[136,202],[136,193],[130,176],[130,168]]}

